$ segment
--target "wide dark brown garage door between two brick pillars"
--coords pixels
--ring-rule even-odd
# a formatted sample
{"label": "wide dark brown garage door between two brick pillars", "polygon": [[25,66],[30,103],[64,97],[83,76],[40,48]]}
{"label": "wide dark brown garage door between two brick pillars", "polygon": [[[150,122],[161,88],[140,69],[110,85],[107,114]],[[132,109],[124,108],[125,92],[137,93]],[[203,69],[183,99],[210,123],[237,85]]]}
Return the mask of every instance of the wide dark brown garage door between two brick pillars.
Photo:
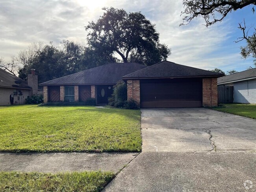
{"label": "wide dark brown garage door between two brick pillars", "polygon": [[141,79],[141,108],[202,107],[202,79]]}

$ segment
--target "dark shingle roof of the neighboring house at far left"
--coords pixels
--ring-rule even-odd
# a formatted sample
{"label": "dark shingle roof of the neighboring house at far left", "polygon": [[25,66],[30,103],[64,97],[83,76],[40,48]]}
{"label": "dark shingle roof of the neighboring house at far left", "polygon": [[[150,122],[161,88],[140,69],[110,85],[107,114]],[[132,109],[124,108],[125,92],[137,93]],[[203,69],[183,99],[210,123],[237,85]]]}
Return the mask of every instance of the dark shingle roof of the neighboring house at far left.
{"label": "dark shingle roof of the neighboring house at far left", "polygon": [[24,81],[3,69],[0,69],[0,87],[32,89],[32,87],[28,86],[27,81]]}

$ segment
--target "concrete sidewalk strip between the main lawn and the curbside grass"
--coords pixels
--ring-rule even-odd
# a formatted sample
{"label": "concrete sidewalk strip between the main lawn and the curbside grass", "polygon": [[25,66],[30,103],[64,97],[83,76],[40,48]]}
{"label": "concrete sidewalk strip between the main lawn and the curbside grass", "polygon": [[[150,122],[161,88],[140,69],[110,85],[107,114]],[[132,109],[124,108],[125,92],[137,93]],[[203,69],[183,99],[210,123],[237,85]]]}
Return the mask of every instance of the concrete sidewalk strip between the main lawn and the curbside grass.
{"label": "concrete sidewalk strip between the main lawn and the curbside grass", "polygon": [[0,171],[118,172],[138,153],[0,153]]}

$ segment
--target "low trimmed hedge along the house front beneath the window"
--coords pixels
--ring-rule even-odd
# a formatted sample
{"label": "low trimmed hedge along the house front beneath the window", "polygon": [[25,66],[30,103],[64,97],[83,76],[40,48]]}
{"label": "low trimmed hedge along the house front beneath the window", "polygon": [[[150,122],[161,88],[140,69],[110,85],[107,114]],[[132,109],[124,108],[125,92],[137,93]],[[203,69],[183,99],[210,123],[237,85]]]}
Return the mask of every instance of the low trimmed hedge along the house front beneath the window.
{"label": "low trimmed hedge along the house front beneath the window", "polygon": [[88,98],[85,102],[48,102],[42,103],[38,106],[95,106],[96,100],[95,98]]}

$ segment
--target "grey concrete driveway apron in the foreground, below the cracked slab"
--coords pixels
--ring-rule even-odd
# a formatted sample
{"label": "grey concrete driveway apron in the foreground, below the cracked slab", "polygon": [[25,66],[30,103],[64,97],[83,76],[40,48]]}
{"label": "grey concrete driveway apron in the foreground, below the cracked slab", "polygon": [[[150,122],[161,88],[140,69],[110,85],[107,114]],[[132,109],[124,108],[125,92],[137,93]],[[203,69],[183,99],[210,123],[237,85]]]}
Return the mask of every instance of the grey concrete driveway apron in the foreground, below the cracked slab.
{"label": "grey concrete driveway apron in the foreground, below the cracked slab", "polygon": [[143,152],[104,192],[255,192],[256,153]]}

